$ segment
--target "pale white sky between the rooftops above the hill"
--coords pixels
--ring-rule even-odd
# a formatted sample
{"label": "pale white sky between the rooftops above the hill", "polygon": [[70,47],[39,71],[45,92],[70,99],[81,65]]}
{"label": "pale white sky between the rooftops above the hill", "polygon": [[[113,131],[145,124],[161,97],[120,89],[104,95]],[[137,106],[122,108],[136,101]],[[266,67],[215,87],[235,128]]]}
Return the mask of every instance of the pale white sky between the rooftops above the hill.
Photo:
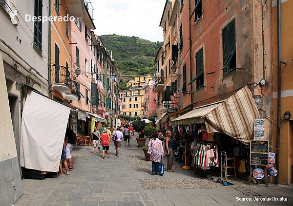
{"label": "pale white sky between the rooftops above the hill", "polygon": [[166,0],[91,0],[96,35],[135,36],[163,41],[159,26]]}

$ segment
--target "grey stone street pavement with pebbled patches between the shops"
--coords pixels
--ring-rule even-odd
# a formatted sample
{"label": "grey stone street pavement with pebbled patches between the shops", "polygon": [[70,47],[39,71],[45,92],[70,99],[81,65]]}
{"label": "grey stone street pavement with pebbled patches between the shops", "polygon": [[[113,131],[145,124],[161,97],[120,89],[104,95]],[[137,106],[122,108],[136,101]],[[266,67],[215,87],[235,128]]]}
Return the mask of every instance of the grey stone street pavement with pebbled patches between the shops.
{"label": "grey stone street pavement with pebbled patches between the shops", "polygon": [[[232,180],[229,182],[234,186],[224,187],[215,182],[217,177],[200,179],[181,169],[180,162],[174,162],[174,172],[151,176],[151,162],[143,159],[135,138],[130,145],[122,144],[116,157],[111,144],[111,157],[105,159],[101,154],[93,155],[92,147],[75,146],[70,175],[23,179],[24,195],[15,206],[293,205],[293,187],[248,187],[245,182]],[[256,199],[272,197],[287,201]]]}

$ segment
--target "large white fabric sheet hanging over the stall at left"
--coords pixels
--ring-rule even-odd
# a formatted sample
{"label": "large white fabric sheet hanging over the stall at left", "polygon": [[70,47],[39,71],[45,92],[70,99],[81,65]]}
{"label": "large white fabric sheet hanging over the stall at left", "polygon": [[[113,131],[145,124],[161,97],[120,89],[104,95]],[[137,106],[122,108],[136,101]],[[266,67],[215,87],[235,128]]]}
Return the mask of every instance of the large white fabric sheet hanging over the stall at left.
{"label": "large white fabric sheet hanging over the stall at left", "polygon": [[70,108],[35,92],[21,119],[21,166],[58,172]]}

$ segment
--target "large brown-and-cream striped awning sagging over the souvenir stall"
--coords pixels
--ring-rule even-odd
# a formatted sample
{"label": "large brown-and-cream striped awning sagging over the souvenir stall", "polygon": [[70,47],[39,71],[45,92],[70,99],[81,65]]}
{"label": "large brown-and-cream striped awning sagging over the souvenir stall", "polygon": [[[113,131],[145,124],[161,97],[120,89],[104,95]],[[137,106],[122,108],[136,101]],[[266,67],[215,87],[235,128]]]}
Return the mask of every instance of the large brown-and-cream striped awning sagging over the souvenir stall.
{"label": "large brown-and-cream striped awning sagging over the souvenir stall", "polygon": [[221,103],[195,108],[171,120],[170,123],[172,125],[183,124],[182,122],[199,123],[200,116],[201,122],[206,124],[208,133],[221,132],[247,145],[253,137],[254,120],[259,119],[259,113],[248,86]]}

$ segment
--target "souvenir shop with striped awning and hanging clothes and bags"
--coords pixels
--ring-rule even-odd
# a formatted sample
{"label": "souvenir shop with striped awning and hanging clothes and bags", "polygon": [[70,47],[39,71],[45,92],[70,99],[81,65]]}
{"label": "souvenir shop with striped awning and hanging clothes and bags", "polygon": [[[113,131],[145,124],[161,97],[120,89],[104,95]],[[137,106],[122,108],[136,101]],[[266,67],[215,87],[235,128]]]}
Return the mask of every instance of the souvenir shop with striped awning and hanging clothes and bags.
{"label": "souvenir shop with striped awning and hanging clothes and bags", "polygon": [[[177,144],[184,148],[183,168],[189,169],[195,164],[204,170],[206,178],[211,173],[218,176],[220,154],[225,151],[230,160],[228,164],[233,167],[226,175],[244,176],[250,170],[250,140],[254,120],[258,118],[252,94],[248,87],[244,87],[226,100],[194,108],[170,120]],[[190,150],[194,138],[198,139],[196,151]]]}

